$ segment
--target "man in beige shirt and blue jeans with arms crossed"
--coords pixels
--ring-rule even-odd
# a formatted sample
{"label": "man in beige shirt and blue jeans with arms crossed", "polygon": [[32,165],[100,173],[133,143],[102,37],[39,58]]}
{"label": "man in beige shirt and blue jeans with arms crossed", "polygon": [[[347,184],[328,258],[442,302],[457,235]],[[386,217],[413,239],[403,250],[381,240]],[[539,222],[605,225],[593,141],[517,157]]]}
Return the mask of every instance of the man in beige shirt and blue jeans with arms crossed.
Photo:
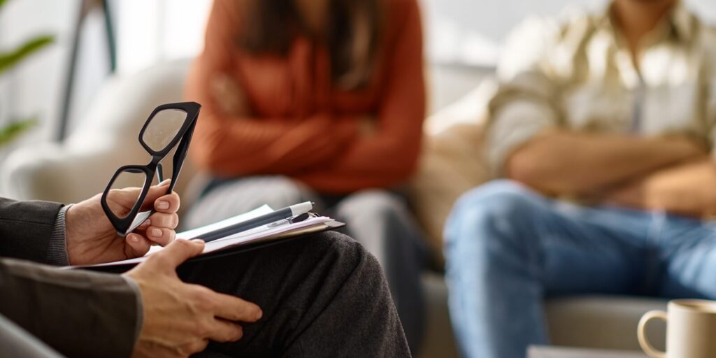
{"label": "man in beige shirt and blue jeans with arms crossed", "polygon": [[507,180],[445,230],[463,355],[546,344],[545,296],[716,299],[716,30],[677,0],[614,0],[527,21],[498,75],[487,152]]}

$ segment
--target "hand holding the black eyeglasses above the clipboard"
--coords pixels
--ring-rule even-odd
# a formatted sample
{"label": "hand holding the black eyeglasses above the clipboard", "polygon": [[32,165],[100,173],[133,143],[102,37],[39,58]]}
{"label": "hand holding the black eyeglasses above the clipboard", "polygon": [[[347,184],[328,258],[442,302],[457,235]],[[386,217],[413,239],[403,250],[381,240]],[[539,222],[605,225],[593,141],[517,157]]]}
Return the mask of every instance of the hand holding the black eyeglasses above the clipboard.
{"label": "hand holding the black eyeglasses above the clipboard", "polygon": [[[142,211],[156,213],[127,237],[117,236],[100,204],[101,194],[72,205],[66,214],[67,258],[72,265],[87,265],[144,256],[150,246],[166,246],[175,238],[179,223],[179,195],[166,194],[169,180],[150,188]],[[112,190],[107,202],[115,213],[129,213],[140,188]]]}

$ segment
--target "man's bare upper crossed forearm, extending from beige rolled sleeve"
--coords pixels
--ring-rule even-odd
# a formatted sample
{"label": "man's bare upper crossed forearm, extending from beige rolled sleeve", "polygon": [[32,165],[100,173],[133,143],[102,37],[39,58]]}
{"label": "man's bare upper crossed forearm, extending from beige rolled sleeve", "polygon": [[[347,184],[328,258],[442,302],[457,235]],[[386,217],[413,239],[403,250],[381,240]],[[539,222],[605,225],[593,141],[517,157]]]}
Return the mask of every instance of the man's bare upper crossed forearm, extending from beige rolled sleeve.
{"label": "man's bare upper crossed forearm, extending from beige rolled sleeve", "polygon": [[507,175],[550,194],[583,195],[697,158],[704,151],[684,137],[553,132],[519,148]]}

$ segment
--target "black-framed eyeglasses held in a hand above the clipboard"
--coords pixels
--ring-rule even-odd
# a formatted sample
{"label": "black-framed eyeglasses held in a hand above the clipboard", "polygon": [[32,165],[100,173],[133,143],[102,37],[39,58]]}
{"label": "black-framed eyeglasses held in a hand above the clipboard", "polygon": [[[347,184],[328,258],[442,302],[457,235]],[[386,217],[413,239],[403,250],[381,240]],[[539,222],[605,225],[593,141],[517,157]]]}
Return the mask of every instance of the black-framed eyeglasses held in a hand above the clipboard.
{"label": "black-framed eyeglasses held in a hand above the clipboard", "polygon": [[[112,180],[102,193],[102,209],[115,226],[117,234],[124,237],[149,218],[153,210],[140,213],[149,188],[156,177],[158,182],[165,180],[164,168],[171,166],[171,179],[167,193],[174,190],[189,143],[194,132],[196,119],[201,105],[196,102],[170,103],[155,108],[139,133],[139,142],[151,155],[147,165],[125,165],[117,169]],[[172,163],[165,158],[174,151]],[[122,188],[142,188],[137,198],[127,200],[126,195],[118,194]],[[110,199],[110,200],[108,200]],[[110,205],[111,203],[111,205]]]}

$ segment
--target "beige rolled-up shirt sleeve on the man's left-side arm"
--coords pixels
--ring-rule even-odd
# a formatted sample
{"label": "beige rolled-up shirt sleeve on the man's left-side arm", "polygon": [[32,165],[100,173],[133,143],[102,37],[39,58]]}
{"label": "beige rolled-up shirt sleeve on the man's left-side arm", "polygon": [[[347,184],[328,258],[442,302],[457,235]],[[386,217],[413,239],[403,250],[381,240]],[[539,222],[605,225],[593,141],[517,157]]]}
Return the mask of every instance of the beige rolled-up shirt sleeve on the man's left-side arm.
{"label": "beige rolled-up shirt sleeve on the man's left-side arm", "polygon": [[558,86],[550,69],[548,49],[556,27],[531,19],[508,38],[498,66],[500,88],[490,101],[485,150],[496,176],[503,176],[512,153],[560,122]]}

